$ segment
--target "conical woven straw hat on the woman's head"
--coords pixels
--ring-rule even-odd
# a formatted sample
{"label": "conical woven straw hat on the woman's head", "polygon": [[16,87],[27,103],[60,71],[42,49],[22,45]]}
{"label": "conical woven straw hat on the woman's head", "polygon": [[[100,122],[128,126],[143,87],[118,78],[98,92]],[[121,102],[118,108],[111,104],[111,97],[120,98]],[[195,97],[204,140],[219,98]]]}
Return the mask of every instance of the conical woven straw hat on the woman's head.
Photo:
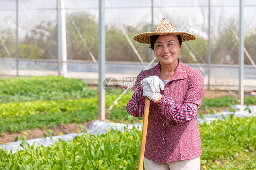
{"label": "conical woven straw hat on the woman's head", "polygon": [[134,40],[140,43],[150,44],[150,37],[153,35],[180,35],[182,42],[196,39],[194,34],[178,31],[169,20],[162,18],[155,26],[153,32],[138,34],[134,37]]}

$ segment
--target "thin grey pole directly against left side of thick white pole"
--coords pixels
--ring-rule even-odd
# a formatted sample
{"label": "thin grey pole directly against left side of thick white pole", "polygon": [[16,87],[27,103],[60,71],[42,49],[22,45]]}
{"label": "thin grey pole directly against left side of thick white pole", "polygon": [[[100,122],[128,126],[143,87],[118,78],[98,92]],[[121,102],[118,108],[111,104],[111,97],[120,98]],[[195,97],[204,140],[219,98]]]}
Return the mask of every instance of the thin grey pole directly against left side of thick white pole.
{"label": "thin grey pole directly against left side of thick white pole", "polygon": [[57,0],[58,20],[58,75],[61,75],[61,0]]}

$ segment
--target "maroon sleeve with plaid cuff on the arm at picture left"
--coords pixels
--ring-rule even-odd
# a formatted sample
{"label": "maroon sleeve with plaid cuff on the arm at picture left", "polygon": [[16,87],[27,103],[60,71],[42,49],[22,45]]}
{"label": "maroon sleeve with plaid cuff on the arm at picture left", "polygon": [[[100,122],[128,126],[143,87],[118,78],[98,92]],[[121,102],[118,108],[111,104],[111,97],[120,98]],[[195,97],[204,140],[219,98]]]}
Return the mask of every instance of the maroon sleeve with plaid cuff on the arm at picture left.
{"label": "maroon sleeve with plaid cuff on the arm at picture left", "polygon": [[137,76],[134,93],[132,99],[126,105],[126,111],[134,117],[143,117],[145,107],[145,97],[143,96],[143,88],[140,87],[140,82],[143,80],[143,71]]}

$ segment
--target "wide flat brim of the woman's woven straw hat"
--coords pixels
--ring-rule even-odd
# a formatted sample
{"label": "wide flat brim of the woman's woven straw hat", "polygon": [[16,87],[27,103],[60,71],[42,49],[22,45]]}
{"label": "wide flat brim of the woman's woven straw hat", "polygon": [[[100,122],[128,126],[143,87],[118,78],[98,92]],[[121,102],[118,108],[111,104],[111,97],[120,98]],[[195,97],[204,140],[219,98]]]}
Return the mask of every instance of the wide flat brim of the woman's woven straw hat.
{"label": "wide flat brim of the woman's woven straw hat", "polygon": [[146,32],[136,35],[133,39],[139,43],[150,44],[150,37],[153,35],[180,35],[182,42],[195,40],[196,36],[189,32],[177,31],[177,32]]}

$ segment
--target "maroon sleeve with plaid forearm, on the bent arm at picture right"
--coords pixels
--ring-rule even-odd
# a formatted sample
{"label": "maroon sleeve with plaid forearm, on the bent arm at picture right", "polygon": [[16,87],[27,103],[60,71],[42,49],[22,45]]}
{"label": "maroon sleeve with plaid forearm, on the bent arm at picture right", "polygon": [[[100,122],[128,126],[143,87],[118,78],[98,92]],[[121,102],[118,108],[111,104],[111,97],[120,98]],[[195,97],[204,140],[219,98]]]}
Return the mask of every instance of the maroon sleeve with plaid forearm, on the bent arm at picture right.
{"label": "maroon sleeve with plaid forearm, on the bent arm at picture right", "polygon": [[198,72],[190,77],[189,87],[183,104],[177,104],[171,97],[162,96],[157,103],[161,113],[176,123],[188,123],[196,116],[204,96],[204,78]]}

